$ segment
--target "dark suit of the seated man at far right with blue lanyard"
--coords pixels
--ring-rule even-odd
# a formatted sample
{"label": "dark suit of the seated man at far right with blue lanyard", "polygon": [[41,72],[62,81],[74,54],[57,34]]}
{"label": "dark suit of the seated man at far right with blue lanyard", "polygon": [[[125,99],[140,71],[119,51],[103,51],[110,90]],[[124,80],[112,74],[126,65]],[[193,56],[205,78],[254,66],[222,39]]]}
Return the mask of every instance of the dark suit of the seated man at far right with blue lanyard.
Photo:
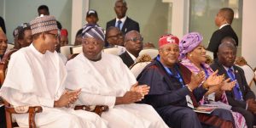
{"label": "dark suit of the seated man at far right with blue lanyard", "polygon": [[[224,66],[222,64],[218,63],[217,61],[214,61],[214,63],[211,65],[212,70],[218,70],[218,75],[225,75],[225,78],[230,78],[227,74],[227,71],[224,69]],[[255,114],[247,110],[247,99],[253,98],[255,99],[254,93],[251,91],[250,87],[247,85],[247,81],[244,75],[244,72],[241,68],[237,67],[236,65],[233,65],[233,68],[235,70],[235,76],[236,81],[238,82],[242,97],[244,101],[237,101],[235,100],[235,94],[233,91],[226,92],[228,102],[232,106],[232,110],[235,112],[238,112],[242,114],[247,121],[248,127],[253,127],[254,120],[256,119]]]}

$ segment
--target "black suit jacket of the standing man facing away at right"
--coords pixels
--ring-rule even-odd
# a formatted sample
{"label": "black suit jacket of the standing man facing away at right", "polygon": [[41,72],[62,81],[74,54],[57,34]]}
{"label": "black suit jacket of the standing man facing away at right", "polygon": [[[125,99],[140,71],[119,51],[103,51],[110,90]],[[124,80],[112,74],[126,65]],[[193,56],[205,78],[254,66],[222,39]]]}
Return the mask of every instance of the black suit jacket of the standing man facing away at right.
{"label": "black suit jacket of the standing man facing away at right", "polygon": [[209,46],[207,47],[207,50],[213,53],[214,58],[217,58],[218,46],[221,43],[221,40],[226,36],[230,36],[235,39],[236,46],[238,46],[238,37],[236,36],[236,32],[232,29],[231,25],[225,25],[223,28],[214,31],[210,39]]}

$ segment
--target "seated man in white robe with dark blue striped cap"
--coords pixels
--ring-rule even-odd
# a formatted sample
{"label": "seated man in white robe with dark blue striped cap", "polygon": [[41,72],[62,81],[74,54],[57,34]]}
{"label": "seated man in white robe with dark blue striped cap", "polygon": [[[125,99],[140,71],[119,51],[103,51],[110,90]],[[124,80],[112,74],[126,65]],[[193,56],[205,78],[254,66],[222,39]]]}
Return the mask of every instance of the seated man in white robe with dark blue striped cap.
{"label": "seated man in white robe with dark blue striped cap", "polygon": [[118,56],[102,53],[102,28],[96,25],[84,28],[82,45],[83,53],[66,64],[66,87],[82,89],[76,104],[108,105],[108,112],[101,117],[111,128],[168,127],[150,105],[135,103],[148,94],[149,87],[138,87],[135,77]]}

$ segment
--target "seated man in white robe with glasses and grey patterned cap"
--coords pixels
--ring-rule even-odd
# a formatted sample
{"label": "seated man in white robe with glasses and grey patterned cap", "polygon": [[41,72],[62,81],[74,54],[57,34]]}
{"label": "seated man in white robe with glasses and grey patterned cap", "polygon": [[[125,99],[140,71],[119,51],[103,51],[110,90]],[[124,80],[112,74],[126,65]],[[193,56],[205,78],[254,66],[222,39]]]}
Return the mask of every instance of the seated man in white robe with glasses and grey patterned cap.
{"label": "seated man in white robe with glasses and grey patterned cap", "polygon": [[[80,89],[65,91],[67,70],[55,47],[58,31],[54,16],[40,16],[31,22],[33,42],[11,56],[0,95],[14,106],[42,106],[35,116],[38,127],[107,127],[94,113],[68,109]],[[14,114],[20,127],[28,127],[28,114]],[[2,117],[1,117],[2,118]]]}

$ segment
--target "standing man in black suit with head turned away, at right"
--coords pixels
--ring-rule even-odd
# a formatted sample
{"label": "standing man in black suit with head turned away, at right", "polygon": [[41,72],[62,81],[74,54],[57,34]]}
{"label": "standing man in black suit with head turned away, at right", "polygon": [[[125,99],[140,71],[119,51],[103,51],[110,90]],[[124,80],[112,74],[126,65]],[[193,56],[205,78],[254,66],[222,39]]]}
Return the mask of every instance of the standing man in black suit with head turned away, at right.
{"label": "standing man in black suit with head turned away, at right", "polygon": [[231,24],[234,19],[234,11],[232,8],[221,8],[215,17],[215,24],[218,26],[218,30],[214,31],[210,39],[207,50],[213,53],[214,58],[217,58],[218,46],[221,40],[226,36],[230,36],[236,41],[238,46],[238,37],[236,32],[232,29]]}

